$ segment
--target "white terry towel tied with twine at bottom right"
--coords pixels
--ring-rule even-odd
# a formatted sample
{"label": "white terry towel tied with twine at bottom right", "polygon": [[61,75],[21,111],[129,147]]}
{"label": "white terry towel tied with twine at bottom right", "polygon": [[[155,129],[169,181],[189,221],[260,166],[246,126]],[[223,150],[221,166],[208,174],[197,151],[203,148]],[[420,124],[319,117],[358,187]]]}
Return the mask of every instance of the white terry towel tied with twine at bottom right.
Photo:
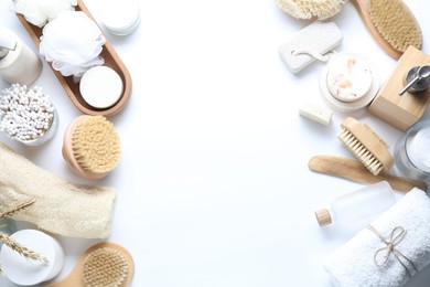
{"label": "white terry towel tied with twine at bottom right", "polygon": [[[340,286],[402,286],[408,273],[413,275],[430,263],[430,199],[422,190],[412,189],[370,226],[374,231],[361,231],[324,262]],[[390,242],[395,246],[388,254]]]}

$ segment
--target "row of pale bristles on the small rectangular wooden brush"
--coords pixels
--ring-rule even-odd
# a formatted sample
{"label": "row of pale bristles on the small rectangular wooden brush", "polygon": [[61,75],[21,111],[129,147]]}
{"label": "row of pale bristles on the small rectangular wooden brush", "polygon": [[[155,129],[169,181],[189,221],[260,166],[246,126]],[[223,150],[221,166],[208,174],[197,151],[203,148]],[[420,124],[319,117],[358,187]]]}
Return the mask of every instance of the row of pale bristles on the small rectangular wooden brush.
{"label": "row of pale bristles on the small rectangular wooden brush", "polygon": [[347,129],[343,129],[337,138],[354,153],[354,156],[372,172],[377,176],[383,170],[381,162]]}

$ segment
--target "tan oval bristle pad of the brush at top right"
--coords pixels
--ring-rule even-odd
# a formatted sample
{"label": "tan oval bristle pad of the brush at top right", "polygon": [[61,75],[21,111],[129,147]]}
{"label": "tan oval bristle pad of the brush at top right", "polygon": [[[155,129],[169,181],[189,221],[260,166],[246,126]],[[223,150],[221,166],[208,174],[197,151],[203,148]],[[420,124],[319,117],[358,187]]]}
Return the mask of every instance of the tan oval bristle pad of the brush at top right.
{"label": "tan oval bristle pad of the brush at top right", "polygon": [[395,50],[402,53],[409,45],[421,49],[421,30],[401,0],[369,0],[368,12],[379,34]]}

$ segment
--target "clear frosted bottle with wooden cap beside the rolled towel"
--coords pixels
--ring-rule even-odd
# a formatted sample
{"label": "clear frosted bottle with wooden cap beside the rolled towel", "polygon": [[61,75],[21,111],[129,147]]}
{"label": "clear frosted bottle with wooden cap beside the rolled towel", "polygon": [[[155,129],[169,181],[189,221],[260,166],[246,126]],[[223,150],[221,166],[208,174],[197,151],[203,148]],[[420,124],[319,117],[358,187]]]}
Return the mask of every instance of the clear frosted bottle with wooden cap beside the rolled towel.
{"label": "clear frosted bottle with wooden cap beside the rolled towel", "polygon": [[315,212],[320,226],[354,224],[383,213],[396,203],[391,187],[387,181],[358,189],[333,199],[329,208]]}

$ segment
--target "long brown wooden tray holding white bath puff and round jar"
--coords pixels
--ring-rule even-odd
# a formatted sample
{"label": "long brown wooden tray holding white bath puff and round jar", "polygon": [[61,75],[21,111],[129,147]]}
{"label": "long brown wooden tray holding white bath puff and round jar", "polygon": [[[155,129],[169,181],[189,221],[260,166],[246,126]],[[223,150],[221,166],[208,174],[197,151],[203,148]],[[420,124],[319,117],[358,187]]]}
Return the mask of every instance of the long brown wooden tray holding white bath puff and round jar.
{"label": "long brown wooden tray holding white bath puff and round jar", "polygon": [[[77,6],[75,7],[75,9],[76,9],[76,11],[85,12],[89,17],[89,19],[92,19],[96,23],[93,15],[90,14],[90,12],[85,7],[85,4],[83,3],[82,0],[77,1]],[[40,36],[42,35],[42,28],[39,28],[36,25],[29,23],[22,14],[17,14],[17,15],[39,49]],[[106,39],[105,45],[103,46],[103,51],[100,53],[100,56],[103,56],[105,59],[104,65],[114,68],[118,73],[118,75],[121,77],[122,83],[123,83],[122,96],[114,106],[108,107],[108,108],[100,109],[100,108],[95,108],[95,107],[92,107],[90,105],[88,105],[84,100],[83,96],[80,95],[79,83],[75,83],[73,81],[72,76],[65,77],[58,71],[55,71],[55,70],[53,70],[53,71],[54,71],[55,76],[58,78],[60,83],[62,84],[62,86],[66,91],[66,93],[67,93],[68,97],[71,98],[71,100],[73,102],[73,104],[80,111],[83,111],[84,114],[87,114],[87,115],[101,115],[105,117],[109,117],[109,116],[112,116],[112,115],[119,113],[128,103],[130,95],[131,95],[131,77],[130,77],[130,74],[129,74],[126,65],[122,63],[122,61],[118,56],[117,52],[115,51],[114,46],[110,44],[110,42],[107,39]],[[51,64],[50,64],[50,66],[52,68]]]}

